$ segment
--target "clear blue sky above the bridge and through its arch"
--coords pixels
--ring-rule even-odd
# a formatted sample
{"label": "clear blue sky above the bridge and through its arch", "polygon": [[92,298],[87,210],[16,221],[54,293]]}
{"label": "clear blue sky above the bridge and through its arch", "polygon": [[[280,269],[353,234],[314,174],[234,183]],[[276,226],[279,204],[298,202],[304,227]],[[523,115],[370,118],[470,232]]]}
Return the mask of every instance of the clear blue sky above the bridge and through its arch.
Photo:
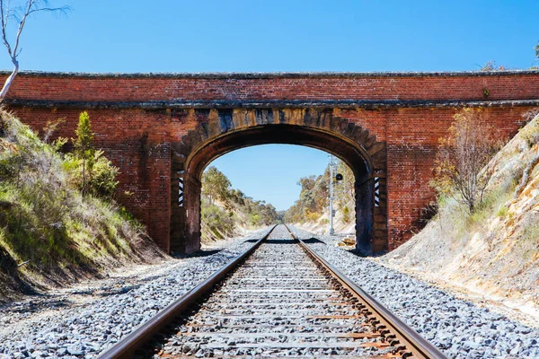
{"label": "clear blue sky above the bridge and through its arch", "polygon": [[[527,68],[536,64],[533,48],[539,40],[536,0],[51,0],[50,4],[69,4],[73,11],[64,17],[40,13],[30,19],[22,36],[22,69],[458,71],[477,70],[489,60]],[[0,67],[11,68],[2,52]],[[267,161],[275,158],[280,161]],[[320,173],[326,160],[315,150],[267,146],[229,153],[216,165],[234,187],[284,209],[297,198],[297,179]],[[253,186],[278,171],[282,176]],[[258,180],[254,173],[261,174]]]}

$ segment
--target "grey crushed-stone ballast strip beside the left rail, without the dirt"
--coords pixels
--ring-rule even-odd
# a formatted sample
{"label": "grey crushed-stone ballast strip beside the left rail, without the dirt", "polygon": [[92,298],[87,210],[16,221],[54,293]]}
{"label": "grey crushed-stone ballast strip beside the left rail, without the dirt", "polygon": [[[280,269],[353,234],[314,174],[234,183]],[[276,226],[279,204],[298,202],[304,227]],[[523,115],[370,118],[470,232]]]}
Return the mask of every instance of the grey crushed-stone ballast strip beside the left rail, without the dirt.
{"label": "grey crushed-stone ballast strip beside the left rail, without the dirt", "polygon": [[[0,317],[4,317],[0,358],[93,358],[252,246],[247,240],[260,239],[270,228],[253,232],[216,254],[183,258],[170,271],[122,287],[88,305],[61,311],[61,316],[10,325],[9,317],[17,315],[13,309],[17,303],[8,304],[0,308]],[[36,312],[39,310],[34,315]]]}

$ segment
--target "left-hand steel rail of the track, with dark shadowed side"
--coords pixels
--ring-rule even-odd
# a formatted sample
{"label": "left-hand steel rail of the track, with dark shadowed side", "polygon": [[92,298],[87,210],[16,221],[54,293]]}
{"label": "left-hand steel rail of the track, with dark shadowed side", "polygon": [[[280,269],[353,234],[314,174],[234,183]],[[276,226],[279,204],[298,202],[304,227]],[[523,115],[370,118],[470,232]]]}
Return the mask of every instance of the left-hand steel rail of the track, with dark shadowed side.
{"label": "left-hand steel rail of the track, with dark shadowed side", "polygon": [[116,345],[111,346],[98,356],[99,359],[128,359],[133,358],[137,350],[143,348],[160,331],[169,326],[173,320],[188,311],[190,307],[199,302],[199,300],[212,290],[212,288],[221,282],[243,259],[247,258],[256,250],[262,241],[265,241],[277,225],[274,225],[260,240],[256,241],[250,248],[244,250],[236,258],[228,262],[224,267],[217,270],[212,276],[201,282],[189,292],[183,294],[178,300],[169,304],[162,311],[159,311],[155,317],[146,321],[138,328],[135,328],[127,337],[121,339]]}

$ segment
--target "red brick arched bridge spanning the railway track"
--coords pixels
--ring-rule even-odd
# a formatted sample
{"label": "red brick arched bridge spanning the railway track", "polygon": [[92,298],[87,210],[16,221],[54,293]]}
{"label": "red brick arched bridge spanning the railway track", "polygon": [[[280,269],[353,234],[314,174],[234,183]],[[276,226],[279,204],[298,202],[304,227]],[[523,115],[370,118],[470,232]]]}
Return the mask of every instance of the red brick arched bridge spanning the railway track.
{"label": "red brick arched bridge spanning the railway track", "polygon": [[438,138],[455,110],[481,107],[484,121],[512,136],[539,105],[539,72],[28,72],[6,103],[38,131],[65,118],[57,135],[66,137],[87,110],[97,145],[120,169],[119,201],[164,250],[199,249],[209,162],[255,144],[303,144],[354,171],[358,247],[379,251],[420,229]]}

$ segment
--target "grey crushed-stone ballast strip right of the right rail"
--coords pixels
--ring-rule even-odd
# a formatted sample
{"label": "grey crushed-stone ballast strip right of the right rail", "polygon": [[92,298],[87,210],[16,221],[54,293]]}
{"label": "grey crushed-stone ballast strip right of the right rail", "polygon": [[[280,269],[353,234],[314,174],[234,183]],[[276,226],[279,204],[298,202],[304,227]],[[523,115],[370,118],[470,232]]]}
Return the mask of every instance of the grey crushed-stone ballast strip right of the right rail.
{"label": "grey crushed-stone ballast strip right of the right rail", "polygon": [[[314,237],[290,229],[300,239]],[[450,358],[539,358],[538,329],[335,247],[334,238],[316,238],[323,243],[311,248]]]}

